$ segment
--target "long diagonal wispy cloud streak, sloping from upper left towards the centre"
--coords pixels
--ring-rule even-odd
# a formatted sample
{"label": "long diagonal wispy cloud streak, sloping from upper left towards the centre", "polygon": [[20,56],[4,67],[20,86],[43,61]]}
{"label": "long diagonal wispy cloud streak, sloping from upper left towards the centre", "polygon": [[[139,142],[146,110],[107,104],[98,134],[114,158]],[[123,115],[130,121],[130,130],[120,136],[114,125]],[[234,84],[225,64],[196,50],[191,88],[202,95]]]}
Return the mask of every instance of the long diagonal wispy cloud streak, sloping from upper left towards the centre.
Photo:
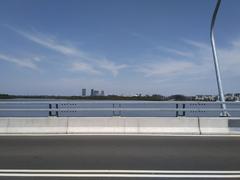
{"label": "long diagonal wispy cloud streak, sloping from upper left towards the centre", "polygon": [[99,72],[108,71],[113,76],[117,76],[120,70],[127,67],[125,64],[116,64],[113,61],[99,58],[96,55],[76,48],[69,42],[60,42],[55,37],[46,34],[22,31],[12,27],[11,29],[36,44],[68,57],[67,60],[71,63],[71,70],[74,71],[81,71],[93,75],[99,75],[102,74]]}

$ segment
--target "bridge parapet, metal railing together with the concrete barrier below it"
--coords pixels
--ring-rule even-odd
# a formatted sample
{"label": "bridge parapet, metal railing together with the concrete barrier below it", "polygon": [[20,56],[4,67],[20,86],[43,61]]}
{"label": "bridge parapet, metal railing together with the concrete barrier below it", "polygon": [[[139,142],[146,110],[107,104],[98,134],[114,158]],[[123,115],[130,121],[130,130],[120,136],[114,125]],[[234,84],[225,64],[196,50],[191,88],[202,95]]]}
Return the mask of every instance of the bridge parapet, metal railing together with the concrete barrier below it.
{"label": "bridge parapet, metal railing together with the concrete barrier below it", "polygon": [[224,104],[233,116],[222,102],[2,101],[0,133],[239,134],[240,102]]}

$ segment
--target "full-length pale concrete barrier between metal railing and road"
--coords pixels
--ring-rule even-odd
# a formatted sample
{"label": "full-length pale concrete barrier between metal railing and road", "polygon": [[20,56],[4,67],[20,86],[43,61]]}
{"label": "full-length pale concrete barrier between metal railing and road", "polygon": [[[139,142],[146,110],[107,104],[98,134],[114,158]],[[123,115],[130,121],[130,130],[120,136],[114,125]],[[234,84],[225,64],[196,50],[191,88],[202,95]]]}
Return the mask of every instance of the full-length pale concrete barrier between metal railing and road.
{"label": "full-length pale concrete barrier between metal railing and road", "polygon": [[0,134],[240,134],[240,118],[8,117]]}

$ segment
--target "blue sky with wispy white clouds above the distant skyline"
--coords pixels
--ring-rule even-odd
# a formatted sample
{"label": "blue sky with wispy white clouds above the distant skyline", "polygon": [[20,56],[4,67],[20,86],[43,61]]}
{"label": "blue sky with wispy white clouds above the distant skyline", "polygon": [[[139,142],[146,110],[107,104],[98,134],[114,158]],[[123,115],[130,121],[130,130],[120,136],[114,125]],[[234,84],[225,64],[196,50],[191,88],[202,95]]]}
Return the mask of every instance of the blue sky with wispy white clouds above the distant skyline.
{"label": "blue sky with wispy white clouds above the distant skyline", "polygon": [[[2,0],[0,93],[217,94],[215,0]],[[225,93],[240,92],[240,1],[215,27]]]}

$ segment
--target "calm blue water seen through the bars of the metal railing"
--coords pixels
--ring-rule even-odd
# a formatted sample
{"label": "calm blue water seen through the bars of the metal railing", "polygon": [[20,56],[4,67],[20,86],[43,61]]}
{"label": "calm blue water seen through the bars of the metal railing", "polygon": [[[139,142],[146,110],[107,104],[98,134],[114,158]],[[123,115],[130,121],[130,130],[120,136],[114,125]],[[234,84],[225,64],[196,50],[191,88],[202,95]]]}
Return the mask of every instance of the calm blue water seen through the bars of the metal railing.
{"label": "calm blue water seen through the bars of the metal railing", "polygon": [[[111,116],[123,116],[123,117],[175,117],[174,111],[117,111],[117,110],[104,110],[104,111],[75,111],[74,108],[176,108],[176,104],[169,103],[156,103],[151,101],[57,101],[57,100],[28,100],[27,103],[22,103],[23,100],[14,101],[0,101],[0,109],[47,109],[49,108],[49,101],[51,101],[52,108],[68,108],[67,111],[60,111],[58,116],[60,117],[111,117]],[[6,102],[6,103],[5,103]],[[11,103],[9,103],[11,102]],[[20,104],[18,102],[21,102]],[[24,100],[26,102],[26,100]],[[240,109],[240,103],[227,104],[228,108]],[[182,108],[182,104],[179,104],[179,108]],[[219,104],[207,104],[207,103],[188,103],[185,104],[185,108],[220,108]],[[220,112],[186,112],[185,116],[219,116]],[[239,117],[240,111],[229,111],[232,117]],[[179,112],[181,115],[182,112]],[[55,112],[52,112],[55,115]],[[0,111],[0,117],[47,117],[49,111]]]}

